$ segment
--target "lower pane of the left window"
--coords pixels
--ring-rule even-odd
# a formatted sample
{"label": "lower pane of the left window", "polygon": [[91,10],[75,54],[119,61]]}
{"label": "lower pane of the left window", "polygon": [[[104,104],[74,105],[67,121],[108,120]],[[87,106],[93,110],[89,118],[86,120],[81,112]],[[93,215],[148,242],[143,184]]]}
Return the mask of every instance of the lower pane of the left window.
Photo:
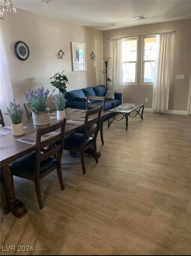
{"label": "lower pane of the left window", "polygon": [[123,63],[123,82],[135,83],[136,63]]}

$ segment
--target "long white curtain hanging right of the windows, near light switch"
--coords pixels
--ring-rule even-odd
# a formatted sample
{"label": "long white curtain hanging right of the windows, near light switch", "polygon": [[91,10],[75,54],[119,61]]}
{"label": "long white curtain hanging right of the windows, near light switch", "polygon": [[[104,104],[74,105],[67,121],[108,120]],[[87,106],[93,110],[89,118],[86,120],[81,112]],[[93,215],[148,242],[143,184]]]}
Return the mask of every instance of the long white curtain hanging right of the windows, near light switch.
{"label": "long white curtain hanging right of the windows, near light switch", "polygon": [[158,60],[155,62],[153,82],[152,111],[164,112],[168,109],[170,87],[170,64],[172,32],[160,33],[158,47]]}

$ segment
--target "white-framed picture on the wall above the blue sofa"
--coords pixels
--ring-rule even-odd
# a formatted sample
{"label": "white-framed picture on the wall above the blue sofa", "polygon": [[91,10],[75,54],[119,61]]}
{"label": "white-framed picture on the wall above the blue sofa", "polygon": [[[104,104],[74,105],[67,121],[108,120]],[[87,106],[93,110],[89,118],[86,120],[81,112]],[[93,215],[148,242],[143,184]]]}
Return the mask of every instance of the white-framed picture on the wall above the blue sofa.
{"label": "white-framed picture on the wall above the blue sofa", "polygon": [[71,42],[73,71],[87,70],[86,44]]}

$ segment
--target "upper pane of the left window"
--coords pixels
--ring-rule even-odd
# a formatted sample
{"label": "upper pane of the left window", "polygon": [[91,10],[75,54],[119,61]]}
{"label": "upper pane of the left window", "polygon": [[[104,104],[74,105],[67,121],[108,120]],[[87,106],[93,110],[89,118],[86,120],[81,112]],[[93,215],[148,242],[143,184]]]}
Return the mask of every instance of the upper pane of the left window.
{"label": "upper pane of the left window", "polygon": [[122,61],[137,61],[137,39],[122,42]]}

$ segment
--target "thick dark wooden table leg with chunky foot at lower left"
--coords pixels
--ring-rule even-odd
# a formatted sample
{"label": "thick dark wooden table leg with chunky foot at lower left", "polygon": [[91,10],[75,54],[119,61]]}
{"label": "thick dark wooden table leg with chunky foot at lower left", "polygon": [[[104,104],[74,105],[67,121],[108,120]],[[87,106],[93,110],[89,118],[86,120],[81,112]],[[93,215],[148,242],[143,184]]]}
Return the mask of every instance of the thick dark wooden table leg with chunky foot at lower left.
{"label": "thick dark wooden table leg with chunky foot at lower left", "polygon": [[27,213],[27,208],[15,197],[13,181],[9,165],[1,167],[8,196],[8,207],[12,214],[17,218],[22,218]]}

